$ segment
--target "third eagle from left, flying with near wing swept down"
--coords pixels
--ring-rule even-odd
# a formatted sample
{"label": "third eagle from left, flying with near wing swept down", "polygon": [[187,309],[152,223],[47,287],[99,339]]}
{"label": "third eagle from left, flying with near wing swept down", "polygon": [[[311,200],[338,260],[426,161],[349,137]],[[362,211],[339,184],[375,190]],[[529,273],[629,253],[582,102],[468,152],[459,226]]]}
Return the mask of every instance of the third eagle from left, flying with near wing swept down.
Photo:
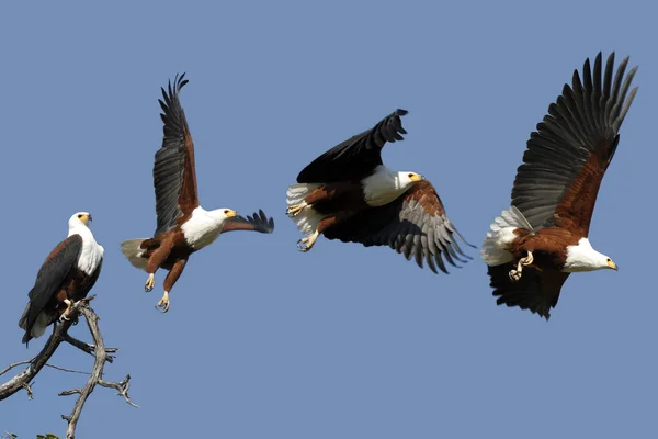
{"label": "third eagle from left, flying with near wing swept down", "polygon": [[297,241],[300,251],[310,250],[322,234],[365,247],[389,246],[407,260],[415,258],[420,268],[426,261],[435,273],[436,267],[447,273],[442,255],[455,267],[455,261],[472,259],[453,238],[464,240],[432,184],[419,173],[395,172],[382,162],[384,145],[407,134],[400,120],[405,114],[396,110],[299,172],[298,184],[287,189],[286,213],[306,235]]}

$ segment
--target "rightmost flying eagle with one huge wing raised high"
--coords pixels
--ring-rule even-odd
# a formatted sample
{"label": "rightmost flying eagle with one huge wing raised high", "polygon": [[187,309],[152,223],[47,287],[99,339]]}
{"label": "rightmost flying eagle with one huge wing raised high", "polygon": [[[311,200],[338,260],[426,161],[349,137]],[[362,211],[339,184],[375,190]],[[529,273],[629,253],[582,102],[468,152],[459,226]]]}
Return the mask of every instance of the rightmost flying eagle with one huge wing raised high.
{"label": "rightmost flying eagle with one huge wing raised high", "polygon": [[519,306],[548,319],[569,273],[616,270],[594,250],[589,226],[603,175],[620,142],[637,88],[626,97],[637,67],[624,78],[625,58],[613,77],[614,53],[602,68],[589,58],[572,85],[548,106],[527,142],[517,171],[512,203],[487,234],[483,258],[489,266],[498,305]]}

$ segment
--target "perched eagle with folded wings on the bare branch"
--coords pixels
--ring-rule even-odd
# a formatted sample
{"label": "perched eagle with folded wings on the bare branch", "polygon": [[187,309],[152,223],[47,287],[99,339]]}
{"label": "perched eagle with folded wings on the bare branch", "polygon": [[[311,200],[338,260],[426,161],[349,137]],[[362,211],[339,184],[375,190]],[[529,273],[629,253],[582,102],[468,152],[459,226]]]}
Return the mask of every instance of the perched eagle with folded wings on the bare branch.
{"label": "perched eagle with folded wings on the bare branch", "polygon": [[25,330],[24,344],[41,337],[57,319],[68,319],[73,303],[87,297],[99,279],[104,249],[93,238],[89,223],[91,215],[87,212],[71,216],[68,237],[50,251],[38,270],[19,320]]}

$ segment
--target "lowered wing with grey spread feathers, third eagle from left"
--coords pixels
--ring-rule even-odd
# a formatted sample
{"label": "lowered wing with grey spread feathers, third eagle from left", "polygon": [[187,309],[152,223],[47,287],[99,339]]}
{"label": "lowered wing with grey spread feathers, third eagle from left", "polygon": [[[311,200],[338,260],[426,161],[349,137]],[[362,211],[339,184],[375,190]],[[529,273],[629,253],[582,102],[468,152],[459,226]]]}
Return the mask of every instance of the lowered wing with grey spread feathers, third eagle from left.
{"label": "lowered wing with grey spread feathers, third eagle from left", "polygon": [[441,199],[428,181],[416,183],[389,204],[368,209],[328,228],[324,235],[365,247],[389,246],[407,260],[415,258],[420,268],[426,261],[435,273],[436,267],[447,273],[442,258],[455,267],[460,267],[455,261],[472,259],[454,239],[456,235],[466,243],[445,215]]}

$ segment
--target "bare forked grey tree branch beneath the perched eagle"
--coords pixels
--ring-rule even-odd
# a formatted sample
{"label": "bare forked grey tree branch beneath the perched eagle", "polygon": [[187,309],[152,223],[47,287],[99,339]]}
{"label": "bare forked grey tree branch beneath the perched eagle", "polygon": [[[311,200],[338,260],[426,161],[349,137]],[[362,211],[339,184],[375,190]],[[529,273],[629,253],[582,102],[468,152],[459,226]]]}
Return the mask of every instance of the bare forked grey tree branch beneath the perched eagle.
{"label": "bare forked grey tree branch beneath the perched eagle", "polygon": [[[69,416],[61,416],[63,419],[65,419],[68,423],[66,434],[67,439],[73,439],[76,437],[76,426],[78,424],[78,420],[80,419],[80,414],[82,413],[82,408],[84,406],[84,403],[87,402],[87,398],[89,397],[89,395],[91,395],[97,384],[103,387],[115,389],[118,392],[117,395],[122,396],[127,404],[132,405],[133,407],[139,407],[138,405],[133,403],[131,396],[128,395],[128,389],[131,386],[131,375],[126,375],[126,378],[118,383],[103,381],[102,379],[105,362],[112,362],[113,360],[113,357],[110,356],[110,353],[114,353],[118,349],[105,348],[103,337],[101,336],[101,331],[99,329],[99,316],[93,312],[93,309],[89,307],[89,302],[92,301],[93,297],[94,296],[92,295],[87,299],[83,299],[72,306],[70,313],[70,320],[65,320],[63,324],[55,326],[55,329],[53,330],[53,334],[46,341],[46,345],[36,357],[34,357],[32,360],[10,364],[4,370],[2,370],[2,372],[0,372],[0,375],[2,375],[7,371],[18,365],[30,364],[25,370],[20,372],[11,380],[5,382],[4,384],[0,384],[0,401],[8,398],[9,396],[19,392],[21,389],[24,389],[27,393],[27,397],[32,399],[33,393],[31,386],[34,384],[32,380],[44,367],[49,367],[64,372],[89,374],[90,376],[84,387],[65,391],[59,394],[60,396],[73,394],[79,395],[78,399],[76,401],[76,404],[73,405],[71,414]],[[80,341],[77,338],[73,338],[67,334],[68,328],[75,322],[77,322],[80,314],[84,316],[87,326],[93,339],[93,345]],[[93,370],[91,371],[91,373],[60,368],[58,365],[47,363],[53,353],[55,353],[55,350],[57,350],[57,347],[63,341],[66,341],[69,345],[75,346],[83,352],[87,352],[94,357]]]}

